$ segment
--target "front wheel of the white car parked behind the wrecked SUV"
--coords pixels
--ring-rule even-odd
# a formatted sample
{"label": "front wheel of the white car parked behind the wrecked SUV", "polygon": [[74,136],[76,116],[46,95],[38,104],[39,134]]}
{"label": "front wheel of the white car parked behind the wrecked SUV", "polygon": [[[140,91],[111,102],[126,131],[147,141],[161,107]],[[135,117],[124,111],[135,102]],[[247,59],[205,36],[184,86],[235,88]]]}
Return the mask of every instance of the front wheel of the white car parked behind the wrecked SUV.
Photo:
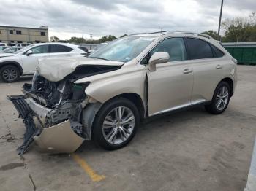
{"label": "front wheel of the white car parked behind the wrecked SUV", "polygon": [[4,82],[16,82],[20,78],[20,71],[16,66],[7,65],[0,69],[0,77]]}

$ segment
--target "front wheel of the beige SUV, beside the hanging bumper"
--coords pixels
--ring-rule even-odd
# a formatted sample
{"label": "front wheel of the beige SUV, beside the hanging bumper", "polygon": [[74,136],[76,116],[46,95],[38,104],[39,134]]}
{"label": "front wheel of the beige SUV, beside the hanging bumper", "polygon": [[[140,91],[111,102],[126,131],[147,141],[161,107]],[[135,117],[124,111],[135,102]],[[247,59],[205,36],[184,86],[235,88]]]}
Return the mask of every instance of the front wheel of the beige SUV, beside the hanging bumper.
{"label": "front wheel of the beige SUV, beside the hanging bumper", "polygon": [[[116,113],[118,114],[119,111],[121,111],[121,120],[118,121],[120,117],[118,118]],[[139,118],[137,107],[128,99],[116,98],[107,102],[99,109],[94,119],[94,141],[108,150],[124,147],[135,136]],[[126,124],[128,120],[129,123]]]}

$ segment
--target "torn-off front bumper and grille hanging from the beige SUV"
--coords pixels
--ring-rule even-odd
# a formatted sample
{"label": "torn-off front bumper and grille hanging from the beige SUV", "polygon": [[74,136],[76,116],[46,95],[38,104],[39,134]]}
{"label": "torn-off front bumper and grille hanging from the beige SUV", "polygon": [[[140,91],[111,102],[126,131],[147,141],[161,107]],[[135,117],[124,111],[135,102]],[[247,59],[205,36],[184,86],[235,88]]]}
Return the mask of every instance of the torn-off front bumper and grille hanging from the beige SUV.
{"label": "torn-off front bumper and grille hanging from the beige SUV", "polygon": [[71,124],[69,119],[45,128],[42,120],[53,111],[37,104],[33,98],[25,98],[23,95],[7,98],[12,101],[26,126],[23,144],[18,147],[19,155],[23,155],[34,141],[45,152],[70,153],[78,149],[85,140],[74,132],[74,128],[79,128],[79,124]]}

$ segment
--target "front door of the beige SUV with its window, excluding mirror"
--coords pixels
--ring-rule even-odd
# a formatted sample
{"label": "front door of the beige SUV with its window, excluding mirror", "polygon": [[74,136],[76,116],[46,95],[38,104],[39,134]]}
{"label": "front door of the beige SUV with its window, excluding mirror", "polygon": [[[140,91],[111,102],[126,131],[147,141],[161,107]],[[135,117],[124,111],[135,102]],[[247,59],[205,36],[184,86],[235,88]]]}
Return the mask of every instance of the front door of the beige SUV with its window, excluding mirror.
{"label": "front door of the beige SUV with its window, excluding mirror", "polygon": [[193,73],[182,37],[168,38],[159,42],[154,52],[168,52],[170,61],[160,63],[156,71],[147,70],[148,114],[154,115],[190,105]]}

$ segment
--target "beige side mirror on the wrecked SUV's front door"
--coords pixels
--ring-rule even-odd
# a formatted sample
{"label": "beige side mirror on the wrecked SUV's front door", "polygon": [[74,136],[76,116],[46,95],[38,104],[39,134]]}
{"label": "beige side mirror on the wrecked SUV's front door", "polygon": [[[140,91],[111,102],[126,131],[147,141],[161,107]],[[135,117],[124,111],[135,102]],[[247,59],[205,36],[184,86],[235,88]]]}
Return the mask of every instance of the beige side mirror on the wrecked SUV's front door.
{"label": "beige side mirror on the wrecked SUV's front door", "polygon": [[154,52],[148,61],[149,71],[156,71],[156,64],[167,63],[170,59],[168,52]]}

